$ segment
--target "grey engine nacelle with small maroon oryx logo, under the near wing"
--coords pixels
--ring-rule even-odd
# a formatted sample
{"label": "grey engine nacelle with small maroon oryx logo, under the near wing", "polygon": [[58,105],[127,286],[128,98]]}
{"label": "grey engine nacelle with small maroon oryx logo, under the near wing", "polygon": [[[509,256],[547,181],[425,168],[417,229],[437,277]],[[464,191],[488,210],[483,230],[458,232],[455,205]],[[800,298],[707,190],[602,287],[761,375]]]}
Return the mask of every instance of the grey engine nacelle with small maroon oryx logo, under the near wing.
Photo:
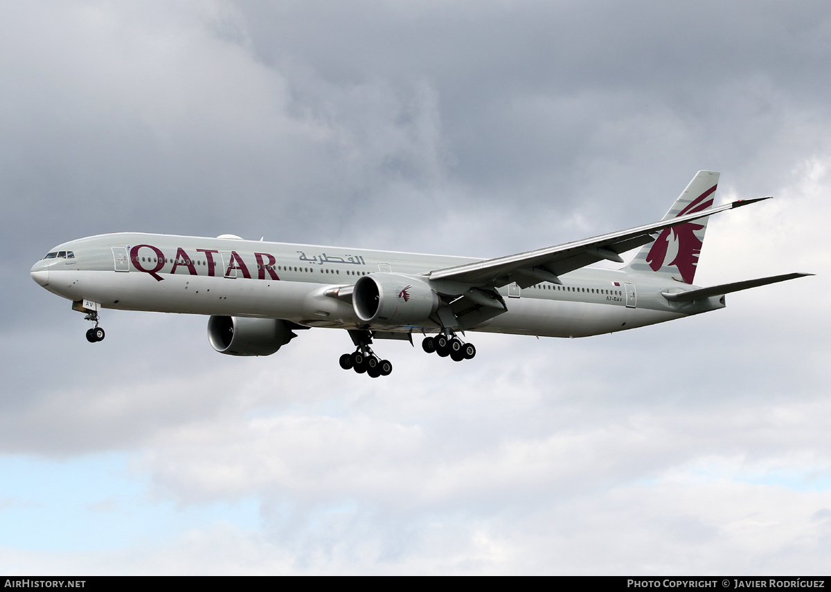
{"label": "grey engine nacelle with small maroon oryx logo, under the near wing", "polygon": [[439,295],[423,280],[401,273],[361,276],[352,291],[359,319],[379,325],[415,325],[439,307]]}

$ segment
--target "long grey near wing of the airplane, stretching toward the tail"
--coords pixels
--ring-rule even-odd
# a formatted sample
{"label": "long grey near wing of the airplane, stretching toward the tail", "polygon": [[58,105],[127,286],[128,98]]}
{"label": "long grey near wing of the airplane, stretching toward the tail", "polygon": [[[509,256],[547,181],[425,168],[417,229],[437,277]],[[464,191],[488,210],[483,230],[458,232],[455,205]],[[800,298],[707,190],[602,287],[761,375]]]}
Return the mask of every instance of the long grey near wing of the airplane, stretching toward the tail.
{"label": "long grey near wing of the airplane, stretching toward the tail", "polygon": [[641,247],[655,240],[653,236],[664,228],[706,218],[714,213],[740,208],[763,199],[743,199],[727,203],[718,208],[709,208],[701,212],[687,214],[662,220],[637,228],[611,232],[599,237],[585,238],[582,241],[566,242],[555,247],[545,247],[535,251],[497,257],[486,261],[465,263],[456,267],[428,272],[430,280],[458,281],[471,286],[501,287],[515,281],[520,287],[533,286],[539,281],[562,283],[558,276],[573,272],[592,263],[608,261],[622,263],[620,253]]}

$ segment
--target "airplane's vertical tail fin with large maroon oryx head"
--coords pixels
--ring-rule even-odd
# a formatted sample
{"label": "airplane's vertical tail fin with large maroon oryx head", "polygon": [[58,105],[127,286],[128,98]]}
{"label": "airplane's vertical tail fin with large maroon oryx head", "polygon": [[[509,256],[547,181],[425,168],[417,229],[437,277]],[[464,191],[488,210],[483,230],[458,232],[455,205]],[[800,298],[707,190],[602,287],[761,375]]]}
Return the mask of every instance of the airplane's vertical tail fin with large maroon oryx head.
{"label": "airplane's vertical tail fin with large maroon oryx head", "polygon": [[[698,171],[684,192],[678,196],[676,203],[672,204],[670,211],[661,219],[668,220],[710,208],[718,183],[718,173],[709,170]],[[701,218],[695,222],[662,230],[654,242],[644,245],[635,254],[626,267],[627,271],[669,276],[691,284],[696,277],[698,255],[704,243],[704,233],[709,219]]]}

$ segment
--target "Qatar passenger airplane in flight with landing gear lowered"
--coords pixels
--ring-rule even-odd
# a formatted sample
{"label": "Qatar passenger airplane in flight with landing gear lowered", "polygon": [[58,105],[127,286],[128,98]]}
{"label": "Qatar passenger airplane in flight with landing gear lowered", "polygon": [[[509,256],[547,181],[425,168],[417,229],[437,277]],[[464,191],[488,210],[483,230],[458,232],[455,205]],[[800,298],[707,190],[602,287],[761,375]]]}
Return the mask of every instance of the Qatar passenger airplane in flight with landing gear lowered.
{"label": "Qatar passenger airplane in flight with landing gear lowered", "polygon": [[[413,343],[451,360],[476,355],[465,331],[585,337],[630,330],[725,306],[725,294],[810,273],[720,286],[693,285],[719,173],[699,171],[661,221],[507,257],[476,259],[284,242],[120,232],[65,242],[32,279],[72,301],[105,332],[100,311],[209,316],[208,338],[228,355],[271,355],[311,327],[345,329],[355,350],[343,369],[392,371],[373,340]],[[639,247],[624,263],[621,253]],[[434,335],[435,334],[435,335]]]}

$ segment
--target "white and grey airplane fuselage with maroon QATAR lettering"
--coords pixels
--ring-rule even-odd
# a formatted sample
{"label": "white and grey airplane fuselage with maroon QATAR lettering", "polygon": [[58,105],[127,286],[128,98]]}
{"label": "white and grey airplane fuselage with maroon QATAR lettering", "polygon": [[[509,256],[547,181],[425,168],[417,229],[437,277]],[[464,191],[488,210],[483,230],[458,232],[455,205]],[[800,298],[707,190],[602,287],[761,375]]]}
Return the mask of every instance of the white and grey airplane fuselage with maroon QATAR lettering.
{"label": "white and grey airplane fuselage with maroon QATAR lettering", "polygon": [[[66,242],[32,267],[32,277],[71,301],[101,308],[290,320],[299,325],[431,332],[417,325],[367,325],[349,301],[327,296],[361,276],[412,276],[475,262],[467,257],[369,251],[232,238],[118,233]],[[499,288],[507,311],[470,327],[499,333],[582,337],[652,325],[724,306],[723,298],[673,303],[671,280],[584,268],[562,285]],[[689,286],[685,286],[689,287]]]}

